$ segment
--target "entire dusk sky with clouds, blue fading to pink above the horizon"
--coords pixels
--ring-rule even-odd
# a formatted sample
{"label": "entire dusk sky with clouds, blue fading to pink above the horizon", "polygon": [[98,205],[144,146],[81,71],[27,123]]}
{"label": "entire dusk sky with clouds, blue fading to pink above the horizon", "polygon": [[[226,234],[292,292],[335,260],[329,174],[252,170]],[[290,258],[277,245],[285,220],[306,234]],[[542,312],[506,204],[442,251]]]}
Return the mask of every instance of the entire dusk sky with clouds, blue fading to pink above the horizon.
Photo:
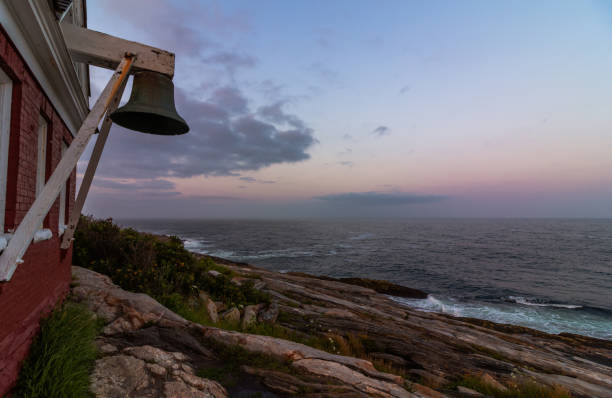
{"label": "entire dusk sky with clouds, blue fading to pink above the horizon", "polygon": [[[608,1],[88,0],[87,11],[90,29],[176,53],[191,128],[114,126],[87,214],[612,217]],[[92,103],[110,73],[91,68]]]}

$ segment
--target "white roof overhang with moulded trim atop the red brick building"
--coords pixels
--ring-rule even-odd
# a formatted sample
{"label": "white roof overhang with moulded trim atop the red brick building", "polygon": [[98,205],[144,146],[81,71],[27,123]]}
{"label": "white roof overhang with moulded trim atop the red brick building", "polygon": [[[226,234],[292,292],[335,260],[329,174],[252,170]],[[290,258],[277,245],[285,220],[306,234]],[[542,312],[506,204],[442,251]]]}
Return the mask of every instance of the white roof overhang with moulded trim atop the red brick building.
{"label": "white roof overhang with moulded trim atop the red brick building", "polygon": [[47,0],[0,1],[0,23],[74,135],[89,113],[64,36]]}

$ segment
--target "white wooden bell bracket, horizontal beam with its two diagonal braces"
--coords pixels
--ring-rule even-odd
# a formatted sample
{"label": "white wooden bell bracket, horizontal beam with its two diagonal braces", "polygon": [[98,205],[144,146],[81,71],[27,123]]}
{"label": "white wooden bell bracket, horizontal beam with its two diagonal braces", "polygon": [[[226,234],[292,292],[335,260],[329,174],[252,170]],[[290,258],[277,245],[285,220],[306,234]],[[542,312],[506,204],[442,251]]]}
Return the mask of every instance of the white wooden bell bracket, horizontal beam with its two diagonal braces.
{"label": "white wooden bell bracket, horizontal beam with its two diagonal braces", "polygon": [[72,143],[66,150],[53,174],[10,238],[0,254],[0,282],[9,281],[23,262],[22,257],[32,242],[34,234],[57,200],[62,186],[70,177],[91,136],[96,132],[102,118],[100,134],[92,151],[87,170],[77,195],[74,209],[69,215],[68,226],[62,236],[61,248],[68,249],[73,241],[85,199],[89,192],[104,144],[110,131],[110,114],[117,109],[130,73],[151,71],[170,79],[174,77],[174,54],[159,48],[125,40],[73,24],[61,23],[66,48],[74,62],[114,69],[108,84],[96,100],[83,121]]}

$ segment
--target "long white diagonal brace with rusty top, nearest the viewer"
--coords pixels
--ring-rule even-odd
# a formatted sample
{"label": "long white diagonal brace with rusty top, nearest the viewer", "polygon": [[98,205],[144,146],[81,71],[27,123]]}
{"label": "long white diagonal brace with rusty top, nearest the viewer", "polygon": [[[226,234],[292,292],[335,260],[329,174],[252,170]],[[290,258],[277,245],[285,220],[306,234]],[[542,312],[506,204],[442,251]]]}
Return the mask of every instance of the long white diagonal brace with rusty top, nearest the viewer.
{"label": "long white diagonal brace with rusty top, nearest the viewer", "polygon": [[0,255],[0,281],[10,280],[17,269],[17,264],[22,262],[21,257],[26,252],[30,242],[32,242],[38,226],[49,212],[53,202],[57,199],[57,195],[68,177],[70,177],[70,173],[76,167],[89,139],[95,133],[102,116],[116,96],[120,86],[128,78],[133,61],[133,55],[126,55],[123,58],[102,91],[102,94],[100,94],[95,105],[83,121],[83,125],[74,137],[72,144],[66,150],[64,157],[62,157],[40,195],[36,198],[32,207],[30,207],[30,210],[28,210],[17,227],[15,234],[9,240],[8,245],[2,252],[2,255]]}

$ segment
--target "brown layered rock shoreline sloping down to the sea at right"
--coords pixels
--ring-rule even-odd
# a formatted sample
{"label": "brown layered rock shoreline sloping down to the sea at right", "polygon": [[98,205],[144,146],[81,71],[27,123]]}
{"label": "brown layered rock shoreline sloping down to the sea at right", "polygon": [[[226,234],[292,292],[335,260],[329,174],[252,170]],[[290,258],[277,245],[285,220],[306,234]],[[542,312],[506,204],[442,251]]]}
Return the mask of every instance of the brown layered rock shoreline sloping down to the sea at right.
{"label": "brown layered rock shoreline sloping down to the sea at right", "polygon": [[201,292],[199,305],[213,323],[273,324],[300,341],[326,339],[326,349],[189,322],[149,296],[73,267],[72,299],[107,321],[97,342],[96,396],[478,396],[460,385],[470,376],[502,391],[527,381],[574,397],[612,397],[611,341],[413,310],[376,291],[388,294],[397,289],[392,284],[213,260],[233,272],[234,283],[251,281],[272,298],[224,308]]}

